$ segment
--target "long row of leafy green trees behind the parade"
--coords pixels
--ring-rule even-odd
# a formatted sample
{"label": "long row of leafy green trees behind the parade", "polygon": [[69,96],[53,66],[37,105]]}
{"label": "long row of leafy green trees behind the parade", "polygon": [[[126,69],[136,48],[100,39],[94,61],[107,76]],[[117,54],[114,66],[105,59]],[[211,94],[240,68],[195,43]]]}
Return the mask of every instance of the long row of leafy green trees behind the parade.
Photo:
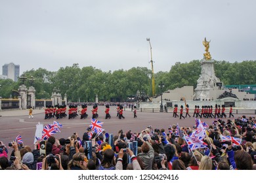
{"label": "long row of leafy green trees behind the parade", "polygon": [[[215,75],[224,83],[229,84],[255,84],[256,61],[242,61],[230,63],[228,61],[215,61]],[[163,82],[164,91],[194,86],[201,73],[200,60],[188,63],[177,62],[170,71],[160,71],[154,74],[156,94],[160,94],[158,84]],[[68,101],[94,102],[96,94],[100,101],[110,101],[112,98],[127,101],[144,91],[152,96],[152,71],[146,67],[133,67],[127,71],[101,71],[95,67],[79,68],[77,63],[72,66],[60,67],[58,71],[37,70],[23,73],[28,79],[24,82],[30,86],[28,80],[31,76],[35,79],[33,87],[36,90],[36,99],[50,99],[54,88],[60,90],[62,97],[66,93]],[[0,96],[9,98],[12,91],[18,90],[22,81],[13,82],[11,79],[0,79]]]}

